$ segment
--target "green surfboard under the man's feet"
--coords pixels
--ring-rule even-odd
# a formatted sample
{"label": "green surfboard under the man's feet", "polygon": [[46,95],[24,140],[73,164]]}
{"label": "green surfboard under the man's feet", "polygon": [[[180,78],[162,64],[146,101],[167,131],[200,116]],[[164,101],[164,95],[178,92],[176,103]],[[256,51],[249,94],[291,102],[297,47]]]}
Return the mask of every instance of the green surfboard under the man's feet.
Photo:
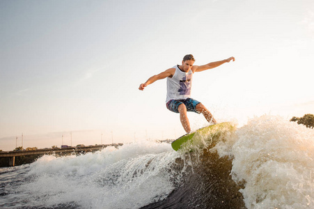
{"label": "green surfboard under the man's feet", "polygon": [[172,148],[176,151],[180,150],[180,148],[183,148],[187,144],[194,144],[196,139],[199,139],[202,136],[205,135],[211,135],[211,137],[216,136],[219,137],[221,132],[223,131],[229,131],[229,130],[234,130],[234,125],[229,122],[224,122],[224,123],[218,123],[215,125],[209,125],[206,127],[201,127],[200,129],[196,130],[195,132],[191,132],[189,134],[185,134],[182,137],[176,139],[173,141],[171,144]]}

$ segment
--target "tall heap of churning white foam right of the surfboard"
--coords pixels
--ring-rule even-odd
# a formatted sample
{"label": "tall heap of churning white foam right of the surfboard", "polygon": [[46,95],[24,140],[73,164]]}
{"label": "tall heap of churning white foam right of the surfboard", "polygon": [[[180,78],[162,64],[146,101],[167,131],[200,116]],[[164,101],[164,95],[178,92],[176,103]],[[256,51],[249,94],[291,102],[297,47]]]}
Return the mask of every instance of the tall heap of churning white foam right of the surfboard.
{"label": "tall heap of churning white foam right of the surfboard", "polygon": [[265,115],[217,150],[234,157],[231,173],[237,183],[245,182],[247,208],[314,207],[314,130]]}

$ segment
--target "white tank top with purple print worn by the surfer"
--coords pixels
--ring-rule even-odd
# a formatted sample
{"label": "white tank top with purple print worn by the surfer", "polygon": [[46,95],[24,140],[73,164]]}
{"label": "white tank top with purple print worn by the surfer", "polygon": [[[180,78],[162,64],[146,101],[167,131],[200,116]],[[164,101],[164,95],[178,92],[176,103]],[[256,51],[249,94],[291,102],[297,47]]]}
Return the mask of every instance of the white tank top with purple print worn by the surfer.
{"label": "white tank top with purple print worn by the surfer", "polygon": [[167,77],[167,98],[169,100],[185,100],[191,97],[191,86],[193,72],[182,72],[178,65],[175,65],[175,74],[173,77]]}

